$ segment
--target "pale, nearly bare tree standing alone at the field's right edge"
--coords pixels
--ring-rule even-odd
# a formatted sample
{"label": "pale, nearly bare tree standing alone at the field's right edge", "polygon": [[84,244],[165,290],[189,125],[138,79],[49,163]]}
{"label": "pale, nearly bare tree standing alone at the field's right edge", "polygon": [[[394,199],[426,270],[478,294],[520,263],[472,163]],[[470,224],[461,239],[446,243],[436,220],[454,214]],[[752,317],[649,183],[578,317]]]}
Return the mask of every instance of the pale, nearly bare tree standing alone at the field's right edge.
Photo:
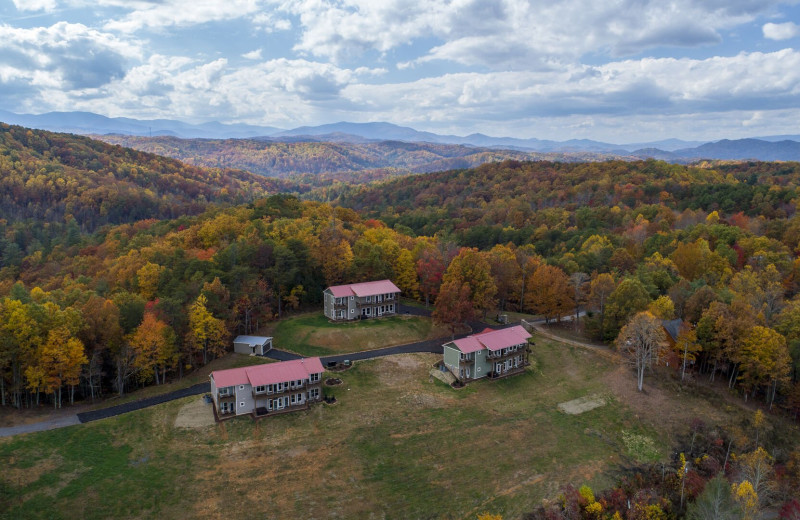
{"label": "pale, nearly bare tree standing alone at the field's right edge", "polygon": [[617,348],[636,367],[636,384],[640,392],[645,370],[658,362],[665,344],[661,321],[647,311],[631,318],[617,336]]}

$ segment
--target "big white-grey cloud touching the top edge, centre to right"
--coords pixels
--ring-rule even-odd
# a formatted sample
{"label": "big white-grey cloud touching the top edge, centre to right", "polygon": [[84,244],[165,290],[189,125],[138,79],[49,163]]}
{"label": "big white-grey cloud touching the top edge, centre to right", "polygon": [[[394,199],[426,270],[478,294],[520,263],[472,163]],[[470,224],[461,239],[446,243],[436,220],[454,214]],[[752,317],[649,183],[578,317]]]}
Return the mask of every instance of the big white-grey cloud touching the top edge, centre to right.
{"label": "big white-grey cloud touching the top edge, centre to right", "polygon": [[[777,0],[302,0],[295,50],[339,62],[438,40],[416,62],[446,60],[494,69],[538,68],[587,53],[627,56],[655,47],[721,41]],[[414,61],[401,66],[408,67]]]}

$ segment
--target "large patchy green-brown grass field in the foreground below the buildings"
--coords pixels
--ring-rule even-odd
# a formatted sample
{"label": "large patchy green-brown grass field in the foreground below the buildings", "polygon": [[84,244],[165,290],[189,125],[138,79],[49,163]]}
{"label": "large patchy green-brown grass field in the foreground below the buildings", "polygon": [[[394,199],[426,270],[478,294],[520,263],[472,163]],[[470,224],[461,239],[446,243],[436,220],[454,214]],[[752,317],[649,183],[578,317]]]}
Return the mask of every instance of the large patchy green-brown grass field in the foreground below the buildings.
{"label": "large patchy green-brown grass field in the foreground below the buildings", "polygon": [[[0,518],[514,518],[565,482],[611,484],[631,435],[652,439],[639,456],[654,460],[692,417],[743,413],[638,394],[627,368],[591,352],[539,340],[532,358],[522,375],[454,390],[430,380],[438,356],[392,356],[339,374],[335,405],[258,423],[175,428],[192,397],[0,439]],[[558,410],[590,394],[608,404]]]}

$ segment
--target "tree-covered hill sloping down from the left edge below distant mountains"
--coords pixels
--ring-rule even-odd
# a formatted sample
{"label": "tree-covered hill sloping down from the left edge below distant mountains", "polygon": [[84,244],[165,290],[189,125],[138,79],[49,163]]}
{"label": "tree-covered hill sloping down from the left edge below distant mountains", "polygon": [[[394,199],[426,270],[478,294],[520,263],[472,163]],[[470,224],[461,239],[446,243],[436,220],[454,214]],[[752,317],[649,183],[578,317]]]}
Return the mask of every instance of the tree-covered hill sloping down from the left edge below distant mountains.
{"label": "tree-covered hill sloping down from the left edge below distant mountains", "polygon": [[289,184],[244,171],[199,168],[88,137],[0,124],[0,218],[104,224],[195,214]]}

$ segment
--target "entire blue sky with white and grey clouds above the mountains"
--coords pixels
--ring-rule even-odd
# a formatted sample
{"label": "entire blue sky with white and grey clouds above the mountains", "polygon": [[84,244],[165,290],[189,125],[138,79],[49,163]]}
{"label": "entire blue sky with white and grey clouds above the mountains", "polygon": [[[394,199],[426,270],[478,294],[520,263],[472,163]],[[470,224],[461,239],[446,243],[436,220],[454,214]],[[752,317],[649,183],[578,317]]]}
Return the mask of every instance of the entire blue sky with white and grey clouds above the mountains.
{"label": "entire blue sky with white and grey clouds above the mountains", "polygon": [[0,0],[0,109],[611,143],[800,134],[800,0]]}

